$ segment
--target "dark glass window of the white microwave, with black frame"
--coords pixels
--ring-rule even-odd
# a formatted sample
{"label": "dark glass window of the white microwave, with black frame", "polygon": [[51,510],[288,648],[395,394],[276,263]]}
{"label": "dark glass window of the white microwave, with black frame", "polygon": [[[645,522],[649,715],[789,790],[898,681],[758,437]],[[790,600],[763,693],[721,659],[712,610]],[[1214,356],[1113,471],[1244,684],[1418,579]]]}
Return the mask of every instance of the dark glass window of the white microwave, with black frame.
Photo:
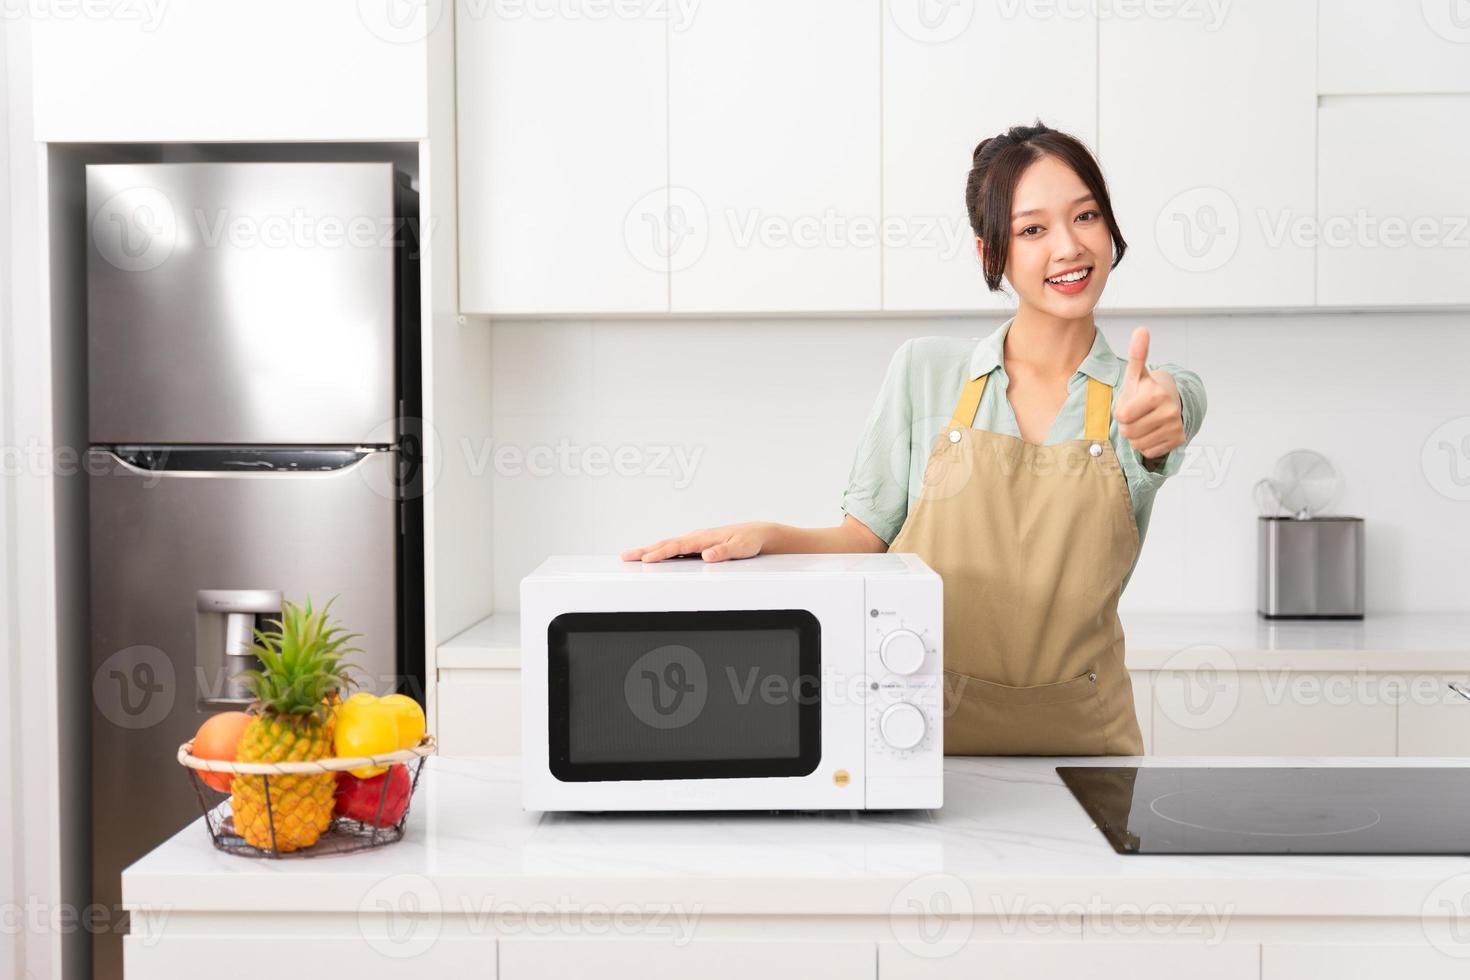
{"label": "dark glass window of the white microwave, with black frame", "polygon": [[804,776],[820,760],[820,627],[803,610],[553,620],[562,780]]}

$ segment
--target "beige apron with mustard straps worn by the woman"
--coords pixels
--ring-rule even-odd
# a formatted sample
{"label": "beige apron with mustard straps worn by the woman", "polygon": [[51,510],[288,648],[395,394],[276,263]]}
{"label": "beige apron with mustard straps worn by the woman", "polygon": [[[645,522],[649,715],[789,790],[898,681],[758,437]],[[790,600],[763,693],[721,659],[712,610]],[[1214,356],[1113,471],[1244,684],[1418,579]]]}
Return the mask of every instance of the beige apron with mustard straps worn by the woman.
{"label": "beige apron with mustard straps worn by the woman", "polygon": [[1138,554],[1108,441],[1113,388],[1088,378],[1083,438],[975,429],[966,383],[889,551],[944,579],[947,755],[1142,755],[1117,599]]}

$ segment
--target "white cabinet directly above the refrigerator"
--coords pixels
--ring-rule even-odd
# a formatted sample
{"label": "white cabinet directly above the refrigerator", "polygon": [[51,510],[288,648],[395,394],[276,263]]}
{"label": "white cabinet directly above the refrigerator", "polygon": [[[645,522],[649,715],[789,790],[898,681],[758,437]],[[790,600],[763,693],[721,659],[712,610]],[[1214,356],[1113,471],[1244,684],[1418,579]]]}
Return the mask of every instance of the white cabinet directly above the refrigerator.
{"label": "white cabinet directly above the refrigerator", "polygon": [[420,140],[438,1],[41,4],[35,138]]}

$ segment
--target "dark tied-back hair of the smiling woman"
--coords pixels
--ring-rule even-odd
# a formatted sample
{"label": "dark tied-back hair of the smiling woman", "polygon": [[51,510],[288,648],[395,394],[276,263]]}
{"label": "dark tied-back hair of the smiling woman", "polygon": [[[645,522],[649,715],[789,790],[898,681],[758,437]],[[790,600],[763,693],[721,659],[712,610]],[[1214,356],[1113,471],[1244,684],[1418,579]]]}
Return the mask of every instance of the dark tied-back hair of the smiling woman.
{"label": "dark tied-back hair of the smiling woman", "polygon": [[1010,254],[1010,209],[1020,175],[1044,156],[1051,156],[1072,167],[1097,198],[1098,210],[1113,235],[1113,264],[1123,262],[1127,242],[1113,219],[1113,201],[1107,194],[1102,169],[1092,153],[1076,137],[1053,129],[1036,120],[1035,126],[1011,126],[998,137],[980,140],[975,147],[970,176],[964,182],[964,207],[970,212],[970,228],[985,244],[985,285],[1000,292],[1001,275]]}

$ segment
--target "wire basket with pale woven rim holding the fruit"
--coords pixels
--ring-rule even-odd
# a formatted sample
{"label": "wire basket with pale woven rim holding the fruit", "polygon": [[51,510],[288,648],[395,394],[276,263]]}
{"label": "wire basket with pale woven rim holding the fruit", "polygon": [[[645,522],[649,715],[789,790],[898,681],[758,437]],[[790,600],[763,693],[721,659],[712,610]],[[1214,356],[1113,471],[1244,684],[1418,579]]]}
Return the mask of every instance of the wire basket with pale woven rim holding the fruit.
{"label": "wire basket with pale woven rim holding the fruit", "polygon": [[[209,832],[210,842],[218,849],[254,858],[315,858],[326,854],[350,854],[353,851],[381,848],[387,843],[401,840],[403,827],[409,820],[409,805],[413,801],[413,793],[419,788],[419,777],[423,774],[423,760],[434,755],[434,736],[425,735],[413,748],[382,752],[379,755],[332,757],[313,760],[310,763],[229,763],[223,760],[198,758],[194,755],[194,741],[190,739],[179,746],[178,761],[179,765],[188,771],[190,782],[194,785],[194,793],[198,796],[200,810],[204,813],[204,829]],[[365,768],[369,765],[390,767],[388,771],[384,773],[384,779],[379,782],[378,799],[375,802],[369,799],[369,810],[373,811],[372,817],[366,820],[356,820],[353,817],[334,813],[331,824],[322,832],[320,837],[318,837],[315,843],[295,849],[278,846],[275,826],[276,813],[275,807],[270,805],[272,777],[276,777],[279,786],[281,777],[285,776],[331,774],[334,779],[340,779],[338,773],[347,773],[348,770]],[[397,814],[395,820],[385,820],[385,815],[391,814],[390,804],[392,804],[392,810],[397,808],[397,804],[392,801],[394,773],[391,767],[394,765],[404,767],[409,789],[406,798],[401,801],[403,811]],[[200,776],[201,771],[260,777],[266,802],[265,813],[269,820],[269,848],[257,848],[240,835],[235,829],[229,792],[209,786]],[[401,780],[398,782],[401,785]]]}

